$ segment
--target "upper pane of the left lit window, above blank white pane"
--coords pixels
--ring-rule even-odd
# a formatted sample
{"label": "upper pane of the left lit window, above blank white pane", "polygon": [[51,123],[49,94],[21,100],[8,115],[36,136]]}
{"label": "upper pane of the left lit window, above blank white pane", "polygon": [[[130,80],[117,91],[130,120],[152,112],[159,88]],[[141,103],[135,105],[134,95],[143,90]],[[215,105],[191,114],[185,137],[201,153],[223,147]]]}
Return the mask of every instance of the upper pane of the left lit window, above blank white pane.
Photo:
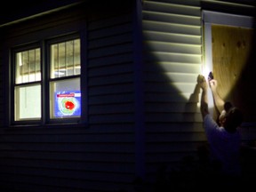
{"label": "upper pane of the left lit window, above blank white pane", "polygon": [[23,84],[41,80],[40,49],[15,54],[15,83]]}

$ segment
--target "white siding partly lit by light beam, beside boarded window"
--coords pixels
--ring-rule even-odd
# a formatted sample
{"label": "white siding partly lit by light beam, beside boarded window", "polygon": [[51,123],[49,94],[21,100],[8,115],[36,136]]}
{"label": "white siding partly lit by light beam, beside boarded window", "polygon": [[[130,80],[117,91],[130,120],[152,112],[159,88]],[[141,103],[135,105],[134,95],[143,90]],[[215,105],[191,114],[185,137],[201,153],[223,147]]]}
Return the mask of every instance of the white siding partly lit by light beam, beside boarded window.
{"label": "white siding partly lit by light beam, beside boarded window", "polygon": [[162,173],[179,170],[183,160],[188,160],[188,164],[196,161],[197,149],[207,145],[198,108],[200,93],[196,88],[196,77],[202,73],[204,49],[202,6],[212,11],[252,14],[252,2],[243,2],[143,1],[148,180],[155,180],[161,169]]}

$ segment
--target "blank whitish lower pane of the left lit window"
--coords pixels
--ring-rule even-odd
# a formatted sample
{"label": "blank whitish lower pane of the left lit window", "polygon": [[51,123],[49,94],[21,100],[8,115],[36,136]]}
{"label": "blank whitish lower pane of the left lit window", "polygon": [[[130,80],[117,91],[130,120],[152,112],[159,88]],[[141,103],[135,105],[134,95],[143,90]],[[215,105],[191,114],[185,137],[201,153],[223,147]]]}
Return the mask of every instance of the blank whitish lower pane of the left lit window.
{"label": "blank whitish lower pane of the left lit window", "polygon": [[15,87],[15,121],[41,118],[41,85]]}

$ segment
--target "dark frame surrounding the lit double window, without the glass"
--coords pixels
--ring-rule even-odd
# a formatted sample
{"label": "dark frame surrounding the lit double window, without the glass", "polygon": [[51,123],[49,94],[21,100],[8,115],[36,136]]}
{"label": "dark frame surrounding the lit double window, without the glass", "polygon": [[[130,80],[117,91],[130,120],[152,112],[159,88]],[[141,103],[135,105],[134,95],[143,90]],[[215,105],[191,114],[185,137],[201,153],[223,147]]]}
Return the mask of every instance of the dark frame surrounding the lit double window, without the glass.
{"label": "dark frame surrounding the lit double window, without the glass", "polygon": [[[21,44],[18,46],[13,46],[11,48],[11,65],[10,65],[10,70],[11,70],[11,90],[9,91],[11,94],[11,100],[10,100],[10,116],[9,116],[9,126],[17,126],[17,125],[26,125],[26,126],[49,126],[49,125],[64,125],[64,124],[75,124],[75,125],[83,125],[87,123],[87,102],[86,102],[86,94],[85,90],[86,89],[86,72],[85,72],[85,65],[86,63],[84,61],[85,57],[82,56],[82,51],[84,50],[84,42],[85,38],[81,36],[82,33],[71,33],[68,35],[63,35],[63,36],[54,36],[52,38],[44,38],[43,40],[40,40],[36,43],[32,44]],[[80,91],[81,91],[81,115],[79,117],[68,117],[68,118],[58,118],[58,119],[52,119],[50,116],[50,60],[51,60],[51,44],[58,44],[61,42],[65,42],[68,40],[73,40],[79,38],[80,39],[80,74],[76,76],[65,76],[65,77],[60,77],[58,80],[64,80],[64,79],[74,79],[76,77],[80,78]],[[16,73],[16,68],[15,68],[15,54],[17,52],[22,52],[22,51],[28,51],[29,49],[35,49],[39,48],[40,49],[40,68],[41,68],[41,81],[36,81],[32,82],[31,84],[36,84],[39,83],[41,84],[41,119],[39,120],[20,120],[20,121],[15,121],[15,107],[14,107],[14,89],[17,86],[15,83],[15,73]],[[83,80],[82,80],[83,79]],[[30,84],[30,83],[28,83]],[[19,84],[18,84],[19,85]],[[73,126],[72,125],[72,126]]]}

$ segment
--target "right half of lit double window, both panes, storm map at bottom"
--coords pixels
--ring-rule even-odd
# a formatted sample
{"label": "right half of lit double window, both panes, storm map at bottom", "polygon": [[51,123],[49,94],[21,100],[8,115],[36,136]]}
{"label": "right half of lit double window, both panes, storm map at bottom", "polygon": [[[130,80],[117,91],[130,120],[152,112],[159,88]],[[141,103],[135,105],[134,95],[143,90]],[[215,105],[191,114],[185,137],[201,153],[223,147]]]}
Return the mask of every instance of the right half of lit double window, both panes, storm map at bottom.
{"label": "right half of lit double window, both panes, storm map at bottom", "polygon": [[51,44],[50,60],[51,118],[80,116],[80,40]]}

